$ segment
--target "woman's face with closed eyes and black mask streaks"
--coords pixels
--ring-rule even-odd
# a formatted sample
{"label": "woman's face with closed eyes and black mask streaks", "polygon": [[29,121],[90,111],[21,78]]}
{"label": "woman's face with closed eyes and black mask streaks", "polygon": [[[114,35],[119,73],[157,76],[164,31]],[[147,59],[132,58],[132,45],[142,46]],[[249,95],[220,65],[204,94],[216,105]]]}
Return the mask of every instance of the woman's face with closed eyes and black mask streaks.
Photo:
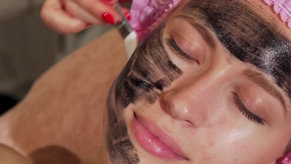
{"label": "woman's face with closed eyes and black mask streaks", "polygon": [[274,164],[291,137],[290,29],[277,19],[261,1],[179,7],[112,85],[108,160]]}

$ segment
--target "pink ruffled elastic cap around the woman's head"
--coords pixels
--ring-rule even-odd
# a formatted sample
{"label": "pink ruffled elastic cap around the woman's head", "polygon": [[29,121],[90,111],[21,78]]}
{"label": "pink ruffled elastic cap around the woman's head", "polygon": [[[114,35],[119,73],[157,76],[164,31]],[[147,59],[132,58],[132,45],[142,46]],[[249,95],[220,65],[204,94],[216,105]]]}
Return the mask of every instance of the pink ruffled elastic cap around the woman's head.
{"label": "pink ruffled elastic cap around the woman's head", "polygon": [[[154,27],[166,18],[182,0],[133,0],[130,21],[141,41]],[[264,0],[291,28],[291,0]]]}

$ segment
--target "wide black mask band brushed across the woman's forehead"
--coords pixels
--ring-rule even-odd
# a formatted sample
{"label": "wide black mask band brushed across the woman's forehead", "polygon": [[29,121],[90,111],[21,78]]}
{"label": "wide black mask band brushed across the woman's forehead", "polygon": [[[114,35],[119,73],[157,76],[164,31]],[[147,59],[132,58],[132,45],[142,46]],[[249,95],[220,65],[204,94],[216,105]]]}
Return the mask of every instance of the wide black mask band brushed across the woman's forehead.
{"label": "wide black mask band brushed across the woman's forehead", "polygon": [[269,74],[291,97],[291,42],[245,0],[192,0],[183,9],[239,60]]}

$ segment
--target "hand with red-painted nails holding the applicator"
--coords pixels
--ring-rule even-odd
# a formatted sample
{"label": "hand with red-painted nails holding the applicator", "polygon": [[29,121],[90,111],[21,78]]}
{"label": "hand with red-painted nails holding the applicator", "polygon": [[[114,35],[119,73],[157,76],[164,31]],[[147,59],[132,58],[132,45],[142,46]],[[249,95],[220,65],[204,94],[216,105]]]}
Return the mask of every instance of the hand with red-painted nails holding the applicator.
{"label": "hand with red-painted nails holding the applicator", "polygon": [[[104,13],[113,17],[113,22],[121,20],[113,4],[118,0],[45,0],[40,16],[52,30],[62,34],[78,33],[89,26],[107,25]],[[120,3],[130,0],[120,0]],[[127,8],[124,12],[129,13]],[[113,23],[113,24],[114,24]]]}

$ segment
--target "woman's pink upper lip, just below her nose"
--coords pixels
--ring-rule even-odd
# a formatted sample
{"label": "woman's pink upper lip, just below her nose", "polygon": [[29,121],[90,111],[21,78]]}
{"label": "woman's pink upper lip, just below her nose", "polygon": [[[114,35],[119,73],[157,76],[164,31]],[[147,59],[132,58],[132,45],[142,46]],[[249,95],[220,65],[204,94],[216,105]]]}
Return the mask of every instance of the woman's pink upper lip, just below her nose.
{"label": "woman's pink upper lip, just below her nose", "polygon": [[147,120],[146,118],[143,118],[140,115],[137,115],[135,113],[135,117],[138,119],[138,121],[146,127],[146,129],[154,135],[160,142],[162,142],[165,146],[170,148],[176,155],[180,156],[181,158],[185,160],[189,160],[186,158],[186,155],[182,151],[182,148],[180,145],[176,142],[174,138],[172,138],[169,134],[167,134],[162,128],[160,128],[155,123],[151,122],[150,120]]}

